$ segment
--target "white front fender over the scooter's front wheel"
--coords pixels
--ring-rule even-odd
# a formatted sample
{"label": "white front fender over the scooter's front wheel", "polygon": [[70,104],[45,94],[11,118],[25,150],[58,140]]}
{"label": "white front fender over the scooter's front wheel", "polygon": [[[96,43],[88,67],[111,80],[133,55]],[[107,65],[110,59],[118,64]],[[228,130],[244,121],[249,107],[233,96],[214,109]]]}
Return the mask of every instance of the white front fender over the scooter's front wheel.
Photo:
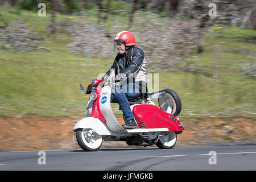
{"label": "white front fender over the scooter's front wheel", "polygon": [[76,132],[79,129],[93,129],[99,135],[112,134],[112,131],[108,129],[105,123],[94,117],[87,117],[77,122],[73,130]]}

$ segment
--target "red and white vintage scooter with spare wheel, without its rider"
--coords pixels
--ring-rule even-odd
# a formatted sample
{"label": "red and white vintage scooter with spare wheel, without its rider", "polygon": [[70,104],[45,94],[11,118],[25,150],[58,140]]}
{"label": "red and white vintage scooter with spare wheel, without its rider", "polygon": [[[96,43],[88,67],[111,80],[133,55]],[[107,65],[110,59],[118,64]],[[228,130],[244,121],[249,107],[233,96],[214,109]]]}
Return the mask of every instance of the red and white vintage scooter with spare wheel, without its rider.
{"label": "red and white vintage scooter with spare wheel, without its rider", "polygon": [[[181,111],[181,100],[177,93],[164,89],[129,100],[138,128],[123,129],[110,106],[111,87],[116,84],[111,80],[92,80],[88,85],[90,89],[86,90],[80,84],[82,94],[90,94],[90,97],[86,118],[77,122],[73,129],[73,141],[76,135],[77,144],[85,151],[97,151],[103,140],[125,141],[129,146],[156,144],[162,149],[173,148],[177,134],[184,130],[179,118],[176,118]],[[158,99],[160,108],[152,101],[155,99]]]}

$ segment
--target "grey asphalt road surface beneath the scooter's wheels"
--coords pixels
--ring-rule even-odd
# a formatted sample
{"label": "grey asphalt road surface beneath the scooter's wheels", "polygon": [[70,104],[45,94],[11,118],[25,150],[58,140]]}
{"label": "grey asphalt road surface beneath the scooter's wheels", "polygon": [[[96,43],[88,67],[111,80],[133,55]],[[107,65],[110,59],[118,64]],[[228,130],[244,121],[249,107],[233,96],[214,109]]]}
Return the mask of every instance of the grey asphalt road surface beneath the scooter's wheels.
{"label": "grey asphalt road surface beneath the scooter's wheels", "polygon": [[0,152],[0,170],[256,170],[256,145]]}

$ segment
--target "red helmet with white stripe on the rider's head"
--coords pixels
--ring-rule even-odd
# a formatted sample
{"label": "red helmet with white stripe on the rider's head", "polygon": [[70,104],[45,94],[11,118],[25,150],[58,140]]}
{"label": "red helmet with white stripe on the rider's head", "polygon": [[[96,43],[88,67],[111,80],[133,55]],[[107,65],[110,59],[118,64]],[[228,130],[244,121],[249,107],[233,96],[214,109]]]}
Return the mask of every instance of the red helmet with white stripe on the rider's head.
{"label": "red helmet with white stripe on the rider's head", "polygon": [[125,43],[125,46],[135,46],[135,38],[131,32],[122,31],[115,35],[114,43]]}

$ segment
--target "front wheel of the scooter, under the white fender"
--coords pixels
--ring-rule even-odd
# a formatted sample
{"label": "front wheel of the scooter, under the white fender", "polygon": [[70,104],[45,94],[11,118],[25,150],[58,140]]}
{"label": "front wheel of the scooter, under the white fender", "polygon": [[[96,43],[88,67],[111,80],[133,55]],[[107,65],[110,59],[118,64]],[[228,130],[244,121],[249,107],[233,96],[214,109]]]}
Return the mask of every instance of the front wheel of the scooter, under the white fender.
{"label": "front wheel of the scooter, under the white fender", "polygon": [[97,134],[92,129],[77,130],[76,140],[85,151],[97,151],[103,142],[102,135]]}

